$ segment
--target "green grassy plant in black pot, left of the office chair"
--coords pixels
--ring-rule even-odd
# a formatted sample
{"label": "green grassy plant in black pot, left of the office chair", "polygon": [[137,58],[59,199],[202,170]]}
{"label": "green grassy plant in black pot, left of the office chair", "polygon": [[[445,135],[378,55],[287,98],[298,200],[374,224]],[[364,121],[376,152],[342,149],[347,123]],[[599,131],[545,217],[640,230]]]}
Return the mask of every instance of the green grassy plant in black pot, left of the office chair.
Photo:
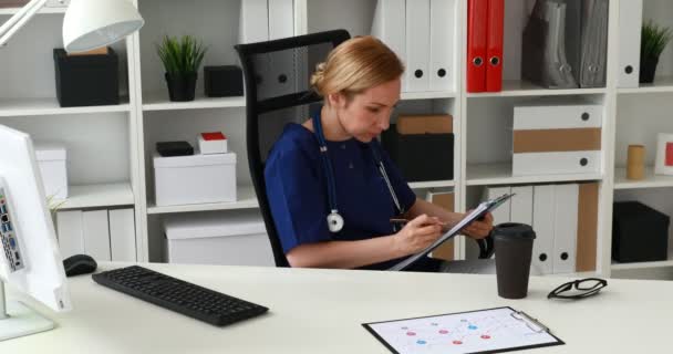
{"label": "green grassy plant in black pot, left of the office chair", "polygon": [[196,77],[207,48],[191,35],[164,37],[157,53],[166,70],[170,101],[194,101]]}

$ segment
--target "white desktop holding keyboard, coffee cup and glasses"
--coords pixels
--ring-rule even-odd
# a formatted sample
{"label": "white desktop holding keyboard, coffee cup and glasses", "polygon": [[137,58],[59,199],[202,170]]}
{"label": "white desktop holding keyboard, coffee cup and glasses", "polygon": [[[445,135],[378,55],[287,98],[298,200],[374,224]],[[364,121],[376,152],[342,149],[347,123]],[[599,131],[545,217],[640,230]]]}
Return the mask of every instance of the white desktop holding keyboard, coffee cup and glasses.
{"label": "white desktop holding keyboard, coffee cup and glasses", "polygon": [[[97,285],[70,282],[59,327],[0,342],[0,353],[390,353],[361,323],[510,305],[567,344],[527,353],[671,353],[673,282],[609,280],[597,296],[546,299],[565,278],[532,278],[528,298],[497,295],[495,275],[145,266],[270,308],[215,327]],[[104,264],[101,269],[111,269]]]}

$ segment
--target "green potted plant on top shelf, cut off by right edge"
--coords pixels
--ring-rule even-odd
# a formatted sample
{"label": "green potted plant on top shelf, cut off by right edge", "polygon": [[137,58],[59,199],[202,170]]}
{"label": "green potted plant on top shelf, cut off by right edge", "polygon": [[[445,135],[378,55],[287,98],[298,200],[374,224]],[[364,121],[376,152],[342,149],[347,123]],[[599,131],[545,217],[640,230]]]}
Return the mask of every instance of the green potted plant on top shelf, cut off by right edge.
{"label": "green potted plant on top shelf, cut off by right edge", "polygon": [[640,45],[641,83],[651,83],[654,81],[659,56],[671,40],[671,34],[670,28],[660,27],[651,20],[643,24]]}

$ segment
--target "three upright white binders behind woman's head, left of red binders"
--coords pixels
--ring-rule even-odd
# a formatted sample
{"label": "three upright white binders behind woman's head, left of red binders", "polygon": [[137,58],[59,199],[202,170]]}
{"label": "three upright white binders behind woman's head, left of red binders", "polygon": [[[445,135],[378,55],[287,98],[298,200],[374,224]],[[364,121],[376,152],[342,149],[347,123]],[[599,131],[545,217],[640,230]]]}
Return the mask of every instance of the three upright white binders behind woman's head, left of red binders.
{"label": "three upright white binders behind woman's head, left of red binders", "polygon": [[404,92],[455,91],[457,0],[379,0],[371,33],[406,63]]}

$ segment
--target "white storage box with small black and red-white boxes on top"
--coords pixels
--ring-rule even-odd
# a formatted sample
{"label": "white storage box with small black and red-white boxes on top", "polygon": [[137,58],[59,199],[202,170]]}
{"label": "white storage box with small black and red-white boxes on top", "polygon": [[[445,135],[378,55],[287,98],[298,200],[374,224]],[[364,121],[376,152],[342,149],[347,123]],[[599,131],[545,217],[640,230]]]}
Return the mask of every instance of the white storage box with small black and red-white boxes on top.
{"label": "white storage box with small black and red-white boxes on top", "polygon": [[154,156],[157,206],[236,201],[236,154]]}

